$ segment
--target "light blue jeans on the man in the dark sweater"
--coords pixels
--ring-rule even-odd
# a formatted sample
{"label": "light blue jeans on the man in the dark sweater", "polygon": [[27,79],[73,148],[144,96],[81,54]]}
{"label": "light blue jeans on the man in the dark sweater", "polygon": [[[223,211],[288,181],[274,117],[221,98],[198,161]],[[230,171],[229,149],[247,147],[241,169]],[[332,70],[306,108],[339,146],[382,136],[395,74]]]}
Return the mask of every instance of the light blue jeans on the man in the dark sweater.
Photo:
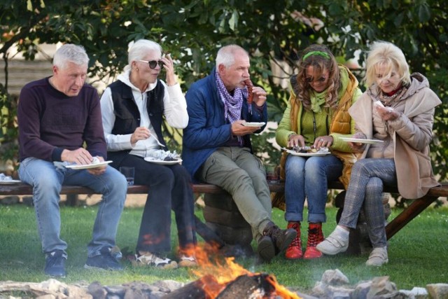
{"label": "light blue jeans on the man in the dark sweater", "polygon": [[88,256],[97,256],[102,247],[115,246],[118,222],[126,200],[125,176],[110,166],[104,174],[95,176],[85,169],[67,169],[62,163],[58,164],[56,166],[53,162],[37,158],[26,158],[20,162],[20,179],[33,186],[33,202],[42,251],[66,252],[67,244],[59,237],[59,192],[62,185],[85,186],[103,195],[94,222],[92,240],[87,246]]}

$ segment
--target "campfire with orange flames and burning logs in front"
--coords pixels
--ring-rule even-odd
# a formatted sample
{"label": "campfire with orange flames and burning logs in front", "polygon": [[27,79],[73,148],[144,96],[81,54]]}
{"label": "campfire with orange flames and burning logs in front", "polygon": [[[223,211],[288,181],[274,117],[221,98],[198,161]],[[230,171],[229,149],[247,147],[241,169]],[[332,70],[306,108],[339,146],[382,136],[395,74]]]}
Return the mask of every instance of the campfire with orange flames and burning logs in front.
{"label": "campfire with orange flames and burning logs in front", "polygon": [[235,258],[218,258],[214,251],[197,248],[199,267],[191,270],[197,280],[178,288],[163,298],[285,298],[299,296],[281,286],[272,274],[253,273],[235,263]]}

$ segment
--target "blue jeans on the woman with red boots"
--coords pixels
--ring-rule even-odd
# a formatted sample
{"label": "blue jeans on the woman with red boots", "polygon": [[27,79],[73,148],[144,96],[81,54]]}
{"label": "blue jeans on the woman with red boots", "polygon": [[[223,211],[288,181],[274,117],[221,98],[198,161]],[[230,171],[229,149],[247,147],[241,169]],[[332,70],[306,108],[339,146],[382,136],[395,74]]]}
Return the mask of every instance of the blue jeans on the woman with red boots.
{"label": "blue jeans on the woman with red boots", "polygon": [[335,181],[341,176],[342,161],[335,155],[315,157],[288,155],[285,172],[285,220],[303,221],[306,197],[308,222],[325,222],[328,181]]}

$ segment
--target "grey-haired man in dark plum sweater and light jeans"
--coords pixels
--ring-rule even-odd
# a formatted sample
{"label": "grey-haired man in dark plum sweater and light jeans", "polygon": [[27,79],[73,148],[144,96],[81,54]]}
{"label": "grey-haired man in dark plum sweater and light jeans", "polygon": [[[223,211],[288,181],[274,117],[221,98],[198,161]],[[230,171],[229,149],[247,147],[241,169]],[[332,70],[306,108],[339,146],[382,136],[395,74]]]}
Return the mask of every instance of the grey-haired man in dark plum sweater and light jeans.
{"label": "grey-haired man in dark plum sweater and light jeans", "polygon": [[[85,83],[88,62],[84,48],[66,44],[55,53],[53,75],[28,83],[20,92],[19,176],[33,186],[44,271],[52,277],[66,276],[67,244],[59,236],[62,186],[85,186],[103,195],[84,267],[123,269],[111,248],[127,182],[104,163],[106,141],[99,97],[97,90]],[[83,169],[70,168],[73,165]]]}

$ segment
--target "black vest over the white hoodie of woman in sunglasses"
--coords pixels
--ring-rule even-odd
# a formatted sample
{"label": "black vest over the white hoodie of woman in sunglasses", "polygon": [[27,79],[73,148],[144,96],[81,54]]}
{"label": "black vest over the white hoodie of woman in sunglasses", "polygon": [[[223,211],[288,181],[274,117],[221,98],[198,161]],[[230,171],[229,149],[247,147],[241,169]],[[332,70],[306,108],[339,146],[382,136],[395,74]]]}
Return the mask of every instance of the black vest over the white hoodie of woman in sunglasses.
{"label": "black vest over the white hoodie of woman in sunglasses", "polygon": [[[137,104],[135,104],[132,89],[121,81],[115,81],[111,85],[111,96],[113,102],[113,113],[115,114],[115,123],[113,124],[112,134],[125,135],[134,133],[135,129],[140,126],[140,113]],[[146,109],[148,110],[149,120],[153,125],[155,134],[162,144],[165,141],[162,136],[163,122],[163,97],[165,95],[165,87],[158,80],[158,84],[153,90],[146,92]],[[165,144],[166,146],[167,144]],[[108,151],[107,159],[113,160],[111,166],[120,167],[120,162],[125,158],[126,151]]]}

